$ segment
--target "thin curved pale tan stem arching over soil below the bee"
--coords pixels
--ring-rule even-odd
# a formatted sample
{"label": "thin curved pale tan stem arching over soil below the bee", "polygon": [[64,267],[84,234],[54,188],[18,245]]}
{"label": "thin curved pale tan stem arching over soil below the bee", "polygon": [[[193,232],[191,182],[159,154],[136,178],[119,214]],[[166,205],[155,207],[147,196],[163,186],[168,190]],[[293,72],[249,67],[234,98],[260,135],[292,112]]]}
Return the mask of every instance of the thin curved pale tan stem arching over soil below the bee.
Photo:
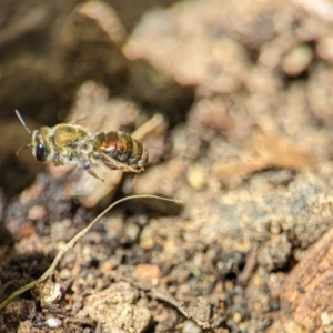
{"label": "thin curved pale tan stem arching over soil below the bee", "polygon": [[7,306],[8,303],[10,303],[13,299],[18,297],[19,295],[21,295],[22,293],[24,293],[26,291],[34,287],[37,284],[42,283],[44,280],[47,280],[56,270],[59,261],[61,260],[61,258],[63,256],[63,254],[70,250],[71,248],[74,246],[74,244],[81,239],[83,238],[89,231],[90,229],[102,218],[112,208],[114,208],[115,205],[118,205],[121,202],[124,201],[129,201],[129,200],[133,200],[133,199],[157,199],[157,200],[163,200],[163,201],[170,201],[170,202],[174,202],[176,204],[182,204],[182,202],[180,200],[175,200],[175,199],[168,199],[168,198],[162,198],[162,196],[158,196],[158,195],[151,195],[151,194],[138,194],[138,195],[130,195],[127,198],[122,198],[115,202],[113,202],[112,204],[110,204],[103,212],[101,212],[92,222],[90,222],[90,224],[88,226],[85,226],[82,231],[80,231],[77,235],[74,235],[57,254],[57,256],[54,258],[53,262],[51,263],[51,265],[49,266],[49,269],[37,280],[23,285],[22,287],[20,287],[19,290],[17,290],[16,292],[13,292],[8,299],[6,299],[2,303],[0,303],[0,310],[4,309]]}

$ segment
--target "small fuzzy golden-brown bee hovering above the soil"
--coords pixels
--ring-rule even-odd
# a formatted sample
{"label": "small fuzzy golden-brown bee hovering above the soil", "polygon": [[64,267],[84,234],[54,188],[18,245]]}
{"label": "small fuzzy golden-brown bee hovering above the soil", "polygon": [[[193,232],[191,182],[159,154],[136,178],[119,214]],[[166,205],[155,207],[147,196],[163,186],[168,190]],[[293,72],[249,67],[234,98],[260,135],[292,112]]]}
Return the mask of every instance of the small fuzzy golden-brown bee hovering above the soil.
{"label": "small fuzzy golden-brown bee hovering above the soil", "polygon": [[16,114],[31,137],[31,143],[21,148],[19,152],[24,148],[31,148],[33,157],[39,162],[83,167],[99,180],[101,179],[92,170],[97,164],[124,172],[144,170],[148,152],[141,142],[128,133],[99,132],[92,135],[75,122],[60,123],[53,128],[42,127],[31,131],[18,110]]}

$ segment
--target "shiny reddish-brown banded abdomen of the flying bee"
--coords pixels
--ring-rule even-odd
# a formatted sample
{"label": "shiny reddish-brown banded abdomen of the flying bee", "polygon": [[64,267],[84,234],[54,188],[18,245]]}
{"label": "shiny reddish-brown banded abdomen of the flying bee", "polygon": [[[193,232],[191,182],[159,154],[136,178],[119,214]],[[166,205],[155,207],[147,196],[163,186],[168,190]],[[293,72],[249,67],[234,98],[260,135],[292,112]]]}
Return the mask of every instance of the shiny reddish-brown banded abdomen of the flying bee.
{"label": "shiny reddish-brown banded abdomen of the flying bee", "polygon": [[100,132],[95,134],[94,145],[98,151],[119,162],[143,167],[148,160],[142,143],[124,132]]}

